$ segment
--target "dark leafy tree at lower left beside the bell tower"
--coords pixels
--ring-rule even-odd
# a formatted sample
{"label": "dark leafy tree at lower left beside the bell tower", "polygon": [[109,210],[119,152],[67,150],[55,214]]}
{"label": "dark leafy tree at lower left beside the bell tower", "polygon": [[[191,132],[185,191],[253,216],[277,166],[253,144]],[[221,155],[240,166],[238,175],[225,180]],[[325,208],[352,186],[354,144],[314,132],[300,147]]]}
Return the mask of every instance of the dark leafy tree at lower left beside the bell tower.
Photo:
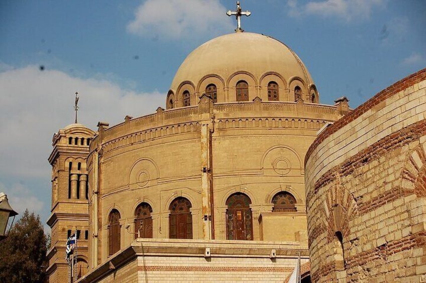
{"label": "dark leafy tree at lower left beside the bell tower", "polygon": [[0,282],[46,282],[46,240],[40,216],[25,210],[0,242]]}

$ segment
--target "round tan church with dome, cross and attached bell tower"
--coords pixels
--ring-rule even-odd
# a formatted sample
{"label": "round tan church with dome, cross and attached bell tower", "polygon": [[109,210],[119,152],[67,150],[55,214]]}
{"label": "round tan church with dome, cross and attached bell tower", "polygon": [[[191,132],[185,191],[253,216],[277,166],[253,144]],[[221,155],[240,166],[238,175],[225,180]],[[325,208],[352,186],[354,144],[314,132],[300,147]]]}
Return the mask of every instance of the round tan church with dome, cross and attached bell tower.
{"label": "round tan church with dome, cross and attached bell tower", "polygon": [[[235,33],[186,57],[164,108],[118,125],[98,122],[96,131],[74,123],[54,135],[49,282],[283,282],[299,257],[302,282],[311,268],[314,281],[343,277],[326,264],[333,254],[316,253],[319,245],[332,250],[336,233],[315,237],[337,223],[318,220],[336,206],[317,195],[317,180],[338,151],[328,158],[321,142],[346,137],[330,125],[352,113],[348,100],[321,104],[293,50],[244,32],[240,17],[250,12],[238,3],[227,14],[238,20]],[[348,203],[339,204],[347,213]],[[65,244],[74,231],[71,275]],[[346,250],[352,229],[339,231]]]}

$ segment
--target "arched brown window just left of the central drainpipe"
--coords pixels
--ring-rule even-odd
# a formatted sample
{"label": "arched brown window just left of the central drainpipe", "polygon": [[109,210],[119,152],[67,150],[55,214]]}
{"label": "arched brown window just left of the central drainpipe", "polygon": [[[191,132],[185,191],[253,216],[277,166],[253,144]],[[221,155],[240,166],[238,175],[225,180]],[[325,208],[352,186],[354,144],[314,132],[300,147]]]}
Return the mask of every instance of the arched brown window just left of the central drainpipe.
{"label": "arched brown window just left of the central drainpipe", "polygon": [[169,237],[171,239],[192,239],[191,202],[184,198],[175,198],[170,203]]}

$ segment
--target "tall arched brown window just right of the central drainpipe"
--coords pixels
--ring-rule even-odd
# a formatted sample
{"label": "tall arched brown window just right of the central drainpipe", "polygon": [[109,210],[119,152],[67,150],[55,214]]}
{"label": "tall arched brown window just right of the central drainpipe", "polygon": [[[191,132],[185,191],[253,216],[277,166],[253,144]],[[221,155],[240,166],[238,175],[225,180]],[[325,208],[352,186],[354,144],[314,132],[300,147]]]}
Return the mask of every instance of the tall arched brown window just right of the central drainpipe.
{"label": "tall arched brown window just right of the central drainpipe", "polygon": [[253,215],[250,198],[243,193],[227,199],[226,226],[228,240],[253,240]]}

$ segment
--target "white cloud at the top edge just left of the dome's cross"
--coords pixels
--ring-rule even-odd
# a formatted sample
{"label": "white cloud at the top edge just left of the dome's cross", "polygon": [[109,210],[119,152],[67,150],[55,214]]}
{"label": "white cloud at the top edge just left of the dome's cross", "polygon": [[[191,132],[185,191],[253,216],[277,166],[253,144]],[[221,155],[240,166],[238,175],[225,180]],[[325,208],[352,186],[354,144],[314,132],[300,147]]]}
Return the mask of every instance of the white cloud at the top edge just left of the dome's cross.
{"label": "white cloud at the top edge just left of the dome's cross", "polygon": [[177,39],[209,34],[214,37],[235,27],[218,0],[147,0],[127,26],[130,33]]}

